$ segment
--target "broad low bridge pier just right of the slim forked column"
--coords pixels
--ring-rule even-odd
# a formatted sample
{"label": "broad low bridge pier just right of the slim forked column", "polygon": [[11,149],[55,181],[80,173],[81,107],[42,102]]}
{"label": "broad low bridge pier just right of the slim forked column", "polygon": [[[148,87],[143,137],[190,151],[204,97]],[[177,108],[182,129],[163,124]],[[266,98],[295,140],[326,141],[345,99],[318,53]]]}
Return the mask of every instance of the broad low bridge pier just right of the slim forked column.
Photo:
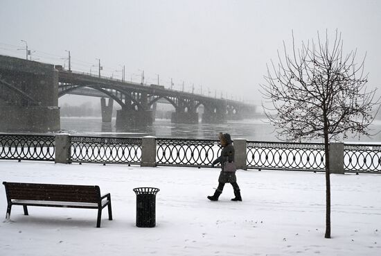
{"label": "broad low bridge pier just right of the slim forked column", "polygon": [[116,128],[139,128],[152,126],[152,110],[126,110],[116,111]]}

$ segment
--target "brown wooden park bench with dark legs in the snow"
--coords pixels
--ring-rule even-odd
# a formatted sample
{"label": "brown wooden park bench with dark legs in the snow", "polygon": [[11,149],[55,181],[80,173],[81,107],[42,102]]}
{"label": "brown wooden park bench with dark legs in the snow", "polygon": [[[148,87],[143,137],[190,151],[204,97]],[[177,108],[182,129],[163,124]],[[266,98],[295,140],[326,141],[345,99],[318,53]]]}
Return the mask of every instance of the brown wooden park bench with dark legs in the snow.
{"label": "brown wooden park bench with dark legs in the snow", "polygon": [[68,207],[98,209],[96,227],[100,227],[102,210],[108,206],[109,220],[112,220],[111,195],[100,196],[98,186],[59,185],[3,182],[8,201],[6,218],[10,218],[12,205],[22,205],[28,215],[27,206]]}

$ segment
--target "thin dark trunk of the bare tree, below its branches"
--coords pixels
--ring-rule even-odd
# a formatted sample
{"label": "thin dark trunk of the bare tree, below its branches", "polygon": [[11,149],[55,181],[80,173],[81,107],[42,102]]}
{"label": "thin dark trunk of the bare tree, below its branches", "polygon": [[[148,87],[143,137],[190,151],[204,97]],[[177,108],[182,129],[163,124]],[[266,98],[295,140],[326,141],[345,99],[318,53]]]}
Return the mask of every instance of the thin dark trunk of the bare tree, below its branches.
{"label": "thin dark trunk of the bare tree, below its branches", "polygon": [[324,151],[326,154],[326,234],[324,237],[330,238],[330,152],[328,132],[324,132]]}

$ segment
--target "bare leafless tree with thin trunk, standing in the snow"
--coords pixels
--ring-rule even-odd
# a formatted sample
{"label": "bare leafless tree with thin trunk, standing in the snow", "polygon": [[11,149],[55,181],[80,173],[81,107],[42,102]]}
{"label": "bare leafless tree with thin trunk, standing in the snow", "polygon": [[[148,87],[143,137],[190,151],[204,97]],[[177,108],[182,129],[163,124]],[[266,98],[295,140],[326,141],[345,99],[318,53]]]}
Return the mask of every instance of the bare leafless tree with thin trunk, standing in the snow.
{"label": "bare leafless tree with thin trunk, standing in the snow", "polygon": [[333,44],[321,40],[301,42],[296,49],[278,51],[278,65],[267,65],[262,93],[271,107],[265,113],[278,138],[288,141],[324,138],[326,168],[326,233],[330,238],[330,164],[329,142],[338,135],[368,135],[373,109],[380,99],[367,90],[364,60],[356,62],[356,51],[344,53],[341,33],[336,31]]}

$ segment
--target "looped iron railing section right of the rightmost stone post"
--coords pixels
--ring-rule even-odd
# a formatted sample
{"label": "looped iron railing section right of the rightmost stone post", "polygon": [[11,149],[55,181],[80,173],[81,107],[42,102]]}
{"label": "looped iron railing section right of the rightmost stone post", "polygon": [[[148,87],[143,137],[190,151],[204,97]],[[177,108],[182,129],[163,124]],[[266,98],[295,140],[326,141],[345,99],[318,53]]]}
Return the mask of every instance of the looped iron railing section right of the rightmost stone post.
{"label": "looped iron railing section right of the rightmost stone post", "polygon": [[381,172],[381,146],[344,144],[344,171]]}

